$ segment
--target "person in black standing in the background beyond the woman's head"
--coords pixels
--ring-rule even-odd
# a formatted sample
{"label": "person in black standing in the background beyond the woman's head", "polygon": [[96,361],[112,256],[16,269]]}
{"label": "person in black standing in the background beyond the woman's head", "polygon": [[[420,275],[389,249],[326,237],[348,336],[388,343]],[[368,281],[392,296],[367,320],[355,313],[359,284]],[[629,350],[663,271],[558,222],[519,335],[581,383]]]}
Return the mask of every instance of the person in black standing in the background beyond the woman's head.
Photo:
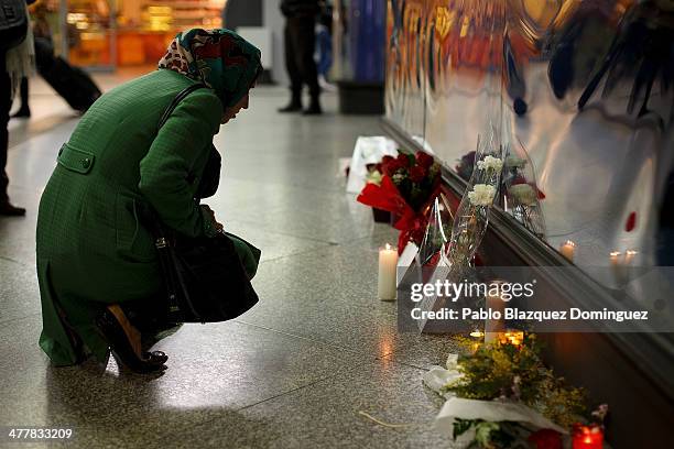
{"label": "person in black standing in the background beyond the woman's head", "polygon": [[285,67],[291,78],[291,101],[279,112],[302,110],[302,87],[309,89],[309,107],[305,114],[319,114],[318,73],[314,61],[316,47],[316,15],[320,12],[318,0],[282,0],[281,12],[285,15]]}

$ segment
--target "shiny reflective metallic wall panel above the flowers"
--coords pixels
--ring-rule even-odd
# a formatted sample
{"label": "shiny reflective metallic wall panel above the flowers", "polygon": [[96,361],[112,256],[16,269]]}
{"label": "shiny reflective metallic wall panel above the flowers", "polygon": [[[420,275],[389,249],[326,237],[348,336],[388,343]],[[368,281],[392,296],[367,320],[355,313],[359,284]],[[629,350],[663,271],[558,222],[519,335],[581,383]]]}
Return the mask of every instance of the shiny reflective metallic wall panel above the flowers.
{"label": "shiny reflective metallic wall panel above the flowers", "polygon": [[496,130],[499,207],[657,314],[671,300],[626,273],[674,265],[667,4],[389,0],[388,18],[388,119],[464,178],[478,136]]}

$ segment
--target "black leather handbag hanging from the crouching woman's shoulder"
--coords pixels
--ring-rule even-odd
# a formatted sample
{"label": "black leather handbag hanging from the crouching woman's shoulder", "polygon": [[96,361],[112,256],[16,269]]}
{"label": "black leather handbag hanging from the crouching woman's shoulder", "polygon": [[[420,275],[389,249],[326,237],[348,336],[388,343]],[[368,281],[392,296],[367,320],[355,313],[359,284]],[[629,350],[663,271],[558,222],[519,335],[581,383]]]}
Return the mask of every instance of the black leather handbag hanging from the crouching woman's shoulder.
{"label": "black leather handbag hanging from the crouching woman's shoulder", "polygon": [[[159,128],[185,97],[203,87],[193,85],[181,91],[164,111]],[[220,156],[215,147],[210,150],[195,200],[214,195],[218,186]],[[165,227],[154,211],[146,211],[145,217],[155,239],[166,287],[168,322],[225,321],[258,303],[258,295],[228,237],[231,234],[189,238]],[[250,244],[249,249],[259,261],[260,251]]]}

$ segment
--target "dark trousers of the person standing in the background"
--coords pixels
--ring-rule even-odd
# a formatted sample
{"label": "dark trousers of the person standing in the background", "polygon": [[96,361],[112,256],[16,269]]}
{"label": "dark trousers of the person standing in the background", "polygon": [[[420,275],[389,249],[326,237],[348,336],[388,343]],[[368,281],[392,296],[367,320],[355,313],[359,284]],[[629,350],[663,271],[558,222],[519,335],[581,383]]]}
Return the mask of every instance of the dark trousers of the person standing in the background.
{"label": "dark trousers of the person standing in the background", "polygon": [[309,88],[312,99],[318,99],[318,74],[314,61],[316,20],[314,17],[287,18],[285,21],[285,67],[291,78],[293,101],[300,101],[302,86]]}

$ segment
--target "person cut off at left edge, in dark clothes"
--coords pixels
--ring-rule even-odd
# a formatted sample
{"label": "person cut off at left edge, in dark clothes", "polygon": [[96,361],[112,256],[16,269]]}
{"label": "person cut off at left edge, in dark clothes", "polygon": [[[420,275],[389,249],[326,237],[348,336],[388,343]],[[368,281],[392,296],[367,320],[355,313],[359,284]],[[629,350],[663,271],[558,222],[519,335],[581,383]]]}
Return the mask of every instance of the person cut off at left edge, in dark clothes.
{"label": "person cut off at left edge, in dark clothes", "polygon": [[[28,4],[35,0],[26,0]],[[28,17],[28,9],[26,9]],[[7,151],[9,147],[9,120],[10,109],[17,87],[21,79],[33,72],[35,64],[35,47],[33,45],[33,33],[26,30],[19,44],[7,47],[0,42],[0,54],[2,55],[2,73],[0,74],[0,216],[24,216],[25,209],[12,206],[8,195],[9,177],[7,176]]]}

